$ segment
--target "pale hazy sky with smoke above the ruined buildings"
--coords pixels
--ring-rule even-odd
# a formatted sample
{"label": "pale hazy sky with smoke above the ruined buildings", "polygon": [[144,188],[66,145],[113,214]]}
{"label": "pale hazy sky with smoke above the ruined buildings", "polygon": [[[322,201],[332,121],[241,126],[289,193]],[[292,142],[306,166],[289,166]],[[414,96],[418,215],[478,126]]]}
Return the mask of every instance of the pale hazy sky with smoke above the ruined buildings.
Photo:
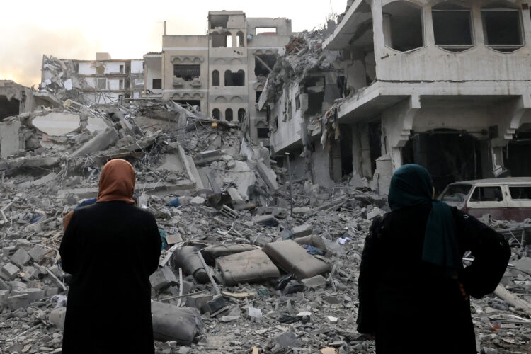
{"label": "pale hazy sky with smoke above the ruined buildings", "polygon": [[[3,1],[4,2],[4,1]],[[5,1],[0,21],[0,79],[40,83],[42,55],[65,59],[142,59],[160,52],[169,35],[207,33],[208,11],[241,10],[247,17],[285,17],[292,30],[312,30],[342,13],[346,0],[25,0]]]}

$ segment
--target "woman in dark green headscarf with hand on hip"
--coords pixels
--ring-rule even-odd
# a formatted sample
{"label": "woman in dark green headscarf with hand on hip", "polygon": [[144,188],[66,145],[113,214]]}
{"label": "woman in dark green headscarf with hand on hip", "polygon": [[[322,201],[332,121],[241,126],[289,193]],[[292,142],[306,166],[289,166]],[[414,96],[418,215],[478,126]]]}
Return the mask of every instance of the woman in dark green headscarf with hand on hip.
{"label": "woman in dark green headscarf with hand on hip", "polygon": [[[375,219],[360,267],[358,331],[382,353],[476,353],[469,295],[492,292],[510,248],[503,236],[434,199],[422,166],[401,166],[391,212]],[[474,262],[462,266],[465,251]]]}

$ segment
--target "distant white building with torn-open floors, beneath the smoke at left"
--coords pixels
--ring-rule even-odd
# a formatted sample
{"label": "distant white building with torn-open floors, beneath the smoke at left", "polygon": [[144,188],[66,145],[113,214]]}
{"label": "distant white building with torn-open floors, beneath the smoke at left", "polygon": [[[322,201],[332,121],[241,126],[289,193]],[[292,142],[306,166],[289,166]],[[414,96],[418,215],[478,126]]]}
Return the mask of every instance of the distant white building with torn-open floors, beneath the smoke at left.
{"label": "distant white building with torn-open floors, beneath the smoke at left", "polygon": [[105,52],[96,53],[96,60],[43,55],[40,91],[89,105],[140,98],[144,91],[144,60],[111,59]]}

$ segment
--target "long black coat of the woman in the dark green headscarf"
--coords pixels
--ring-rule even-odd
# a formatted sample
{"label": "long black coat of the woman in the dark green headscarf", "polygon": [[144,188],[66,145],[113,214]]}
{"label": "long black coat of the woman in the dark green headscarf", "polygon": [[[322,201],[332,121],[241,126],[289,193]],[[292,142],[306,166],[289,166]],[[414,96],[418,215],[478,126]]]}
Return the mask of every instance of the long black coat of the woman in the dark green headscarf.
{"label": "long black coat of the woman in the dark green headscarf", "polygon": [[[365,240],[359,278],[358,331],[374,333],[377,354],[476,353],[470,302],[457,280],[422,261],[431,203],[376,219]],[[459,251],[474,262],[459,272],[473,297],[493,292],[510,257],[503,236],[452,208]]]}

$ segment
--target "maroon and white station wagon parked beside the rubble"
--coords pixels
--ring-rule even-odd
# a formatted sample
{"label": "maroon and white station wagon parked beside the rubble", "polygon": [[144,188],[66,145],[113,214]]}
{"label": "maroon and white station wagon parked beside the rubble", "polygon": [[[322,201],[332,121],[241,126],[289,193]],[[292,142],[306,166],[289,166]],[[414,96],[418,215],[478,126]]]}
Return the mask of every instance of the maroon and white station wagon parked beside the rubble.
{"label": "maroon and white station wagon parked beside the rubble", "polygon": [[523,222],[531,218],[531,177],[490,178],[447,185],[439,200],[474,217]]}

